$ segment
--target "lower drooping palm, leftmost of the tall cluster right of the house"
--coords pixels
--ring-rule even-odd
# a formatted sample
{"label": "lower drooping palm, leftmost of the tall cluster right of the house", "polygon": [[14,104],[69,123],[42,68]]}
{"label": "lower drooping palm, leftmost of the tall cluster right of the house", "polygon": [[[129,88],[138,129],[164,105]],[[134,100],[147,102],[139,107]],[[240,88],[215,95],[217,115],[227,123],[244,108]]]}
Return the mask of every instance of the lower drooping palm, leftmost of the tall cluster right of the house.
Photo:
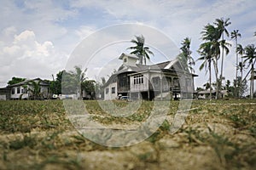
{"label": "lower drooping palm, leftmost of the tall cluster right of the house", "polygon": [[209,84],[210,84],[210,99],[212,99],[212,42],[205,42],[202,43],[198,53],[201,54],[201,57],[198,60],[202,60],[202,64],[200,66],[200,71],[205,68],[206,69],[206,74],[207,71],[209,71]]}

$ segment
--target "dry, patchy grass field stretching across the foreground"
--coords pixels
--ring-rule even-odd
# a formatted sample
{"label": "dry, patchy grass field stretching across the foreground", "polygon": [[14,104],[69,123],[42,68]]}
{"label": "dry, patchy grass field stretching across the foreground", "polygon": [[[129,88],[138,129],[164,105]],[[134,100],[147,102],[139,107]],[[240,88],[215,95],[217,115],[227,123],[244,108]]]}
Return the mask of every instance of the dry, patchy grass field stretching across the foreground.
{"label": "dry, patchy grass field stretching across the foreground", "polygon": [[[133,114],[120,117],[109,115],[96,101],[84,101],[84,104],[91,118],[105,125],[144,122],[154,106],[153,102],[143,101]],[[188,165],[195,158],[198,166],[202,163],[226,169],[253,169],[256,166],[255,104],[255,99],[194,100],[191,108],[195,109],[189,112],[177,133],[170,134],[172,122],[165,121],[136,149],[137,144],[110,148],[84,139],[69,122],[61,100],[0,101],[0,169],[86,169],[91,166],[104,169],[105,164],[114,162],[134,169],[160,169],[165,164],[175,165],[172,160],[164,160],[167,155],[175,159],[176,155],[172,154],[178,153],[186,153],[183,159]],[[113,101],[113,108],[109,109],[118,111],[129,105],[135,107],[130,102]],[[172,101],[167,116],[173,117],[177,107],[178,101]],[[176,143],[179,147],[172,148]],[[153,152],[143,147],[153,148]],[[200,153],[193,151],[197,149],[212,155],[198,159]],[[139,150],[140,154],[131,154],[131,150]],[[148,161],[154,150],[159,158]],[[98,160],[94,161],[95,156]],[[218,162],[211,161],[214,157]],[[178,166],[179,161],[176,163]],[[181,166],[186,169],[185,164]]]}

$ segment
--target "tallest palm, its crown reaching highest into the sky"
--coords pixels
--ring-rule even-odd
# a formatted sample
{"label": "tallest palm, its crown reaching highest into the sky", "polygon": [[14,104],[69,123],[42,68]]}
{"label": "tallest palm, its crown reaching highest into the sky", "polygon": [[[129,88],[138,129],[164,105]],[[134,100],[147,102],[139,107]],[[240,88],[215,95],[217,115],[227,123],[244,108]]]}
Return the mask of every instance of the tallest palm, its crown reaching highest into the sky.
{"label": "tallest palm, its crown reaching highest into the sky", "polygon": [[[221,35],[221,47],[222,47],[222,57],[221,57],[221,71],[220,71],[220,83],[222,83],[222,77],[223,77],[223,64],[224,64],[224,50],[227,49],[227,47],[225,47],[225,42],[224,42],[224,34],[226,34],[227,37],[230,37],[230,33],[229,31],[227,31],[226,26],[230,26],[231,22],[230,22],[230,18],[225,19],[221,18],[221,19],[216,19],[214,24],[217,26],[218,31]],[[220,39],[220,37],[219,37]],[[226,51],[226,55],[229,54]]]}

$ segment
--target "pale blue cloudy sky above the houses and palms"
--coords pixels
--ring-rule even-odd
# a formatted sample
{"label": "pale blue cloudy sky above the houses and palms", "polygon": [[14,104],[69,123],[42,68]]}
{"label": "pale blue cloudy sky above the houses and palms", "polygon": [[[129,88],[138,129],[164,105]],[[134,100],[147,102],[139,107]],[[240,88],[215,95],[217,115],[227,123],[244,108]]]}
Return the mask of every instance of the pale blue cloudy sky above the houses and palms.
{"label": "pale blue cloudy sky above the houses and palms", "polygon": [[[254,0],[1,0],[0,87],[4,87],[11,77],[51,79],[52,74],[66,68],[81,42],[88,43],[90,35],[109,26],[131,23],[153,27],[169,37],[177,49],[183,38],[190,37],[192,56],[197,59],[200,32],[207,23],[212,24],[221,17],[230,18],[232,24],[227,29],[239,30],[241,38],[238,42],[246,46],[256,42],[256,37],[253,37],[255,16]],[[114,34],[119,37],[121,33],[122,30],[118,30]],[[145,32],[137,33],[144,35]],[[149,35],[148,38],[144,35],[148,45],[154,41]],[[93,64],[85,65],[88,67],[87,76],[100,77],[96,69],[103,71],[106,63],[116,64],[121,53],[129,53],[126,48],[132,44],[125,40],[115,39],[116,43],[98,49],[90,59]],[[224,60],[224,77],[231,80],[236,73],[236,54],[234,41],[228,40],[233,47]],[[164,61],[160,53],[154,47],[152,49],[155,53],[153,63]],[[174,59],[174,55],[169,59]],[[199,75],[195,78],[195,87],[201,87],[208,79],[204,71],[199,71],[199,65],[195,65],[195,72]]]}

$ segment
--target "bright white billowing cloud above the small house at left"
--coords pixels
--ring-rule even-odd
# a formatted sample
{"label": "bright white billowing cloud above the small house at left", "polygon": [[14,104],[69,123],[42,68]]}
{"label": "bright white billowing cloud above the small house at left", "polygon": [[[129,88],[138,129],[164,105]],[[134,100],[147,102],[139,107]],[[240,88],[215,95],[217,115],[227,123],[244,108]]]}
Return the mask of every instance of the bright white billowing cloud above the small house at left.
{"label": "bright white billowing cloud above the small house at left", "polygon": [[0,49],[0,80],[11,77],[50,78],[61,71],[67,55],[55,51],[53,42],[38,42],[33,31],[22,31],[13,36],[11,46]]}

